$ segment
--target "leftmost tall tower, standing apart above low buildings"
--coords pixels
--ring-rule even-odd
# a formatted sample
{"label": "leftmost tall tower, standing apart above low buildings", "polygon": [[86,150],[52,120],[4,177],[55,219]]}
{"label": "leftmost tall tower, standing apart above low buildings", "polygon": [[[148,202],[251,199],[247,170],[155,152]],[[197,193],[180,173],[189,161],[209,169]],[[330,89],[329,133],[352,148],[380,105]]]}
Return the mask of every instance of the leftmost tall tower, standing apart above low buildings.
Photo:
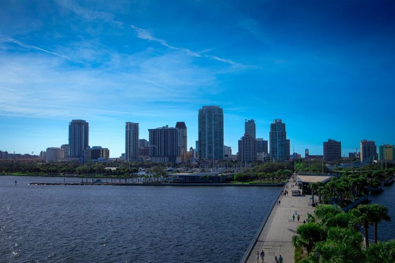
{"label": "leftmost tall tower, standing apart above low buildings", "polygon": [[[82,119],[73,119],[69,123],[68,157],[80,158],[84,163],[85,149],[89,147],[89,123]],[[48,152],[47,152],[48,156]]]}

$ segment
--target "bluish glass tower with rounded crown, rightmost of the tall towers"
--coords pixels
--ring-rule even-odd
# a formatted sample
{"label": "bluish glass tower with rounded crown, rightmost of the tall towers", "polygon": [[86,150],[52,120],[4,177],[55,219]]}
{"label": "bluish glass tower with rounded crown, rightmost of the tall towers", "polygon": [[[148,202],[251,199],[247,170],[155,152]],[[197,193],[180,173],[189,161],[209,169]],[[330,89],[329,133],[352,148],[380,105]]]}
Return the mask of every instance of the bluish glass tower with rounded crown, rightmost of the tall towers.
{"label": "bluish glass tower with rounded crown, rightmost of the tall towers", "polygon": [[281,119],[270,124],[270,157],[276,161],[287,160],[287,131]]}

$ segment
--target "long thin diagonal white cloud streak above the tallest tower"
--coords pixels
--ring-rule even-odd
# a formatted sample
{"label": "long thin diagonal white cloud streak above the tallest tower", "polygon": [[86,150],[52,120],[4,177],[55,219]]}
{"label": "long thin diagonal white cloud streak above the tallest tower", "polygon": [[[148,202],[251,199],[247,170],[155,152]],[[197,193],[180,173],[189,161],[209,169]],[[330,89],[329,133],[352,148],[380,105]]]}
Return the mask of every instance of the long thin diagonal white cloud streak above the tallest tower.
{"label": "long thin diagonal white cloud streak above the tallest tower", "polygon": [[[202,55],[200,55],[199,53],[194,52],[194,51],[191,51],[191,50],[189,50],[189,49],[187,49],[187,48],[176,47],[176,46],[169,45],[169,44],[166,42],[166,40],[153,37],[153,36],[152,36],[147,30],[145,30],[145,29],[136,27],[136,26],[134,26],[134,25],[131,25],[131,27],[136,31],[137,37],[140,38],[140,39],[145,39],[145,40],[149,40],[149,41],[156,41],[156,42],[160,43],[161,45],[166,46],[166,47],[168,47],[168,48],[184,51],[185,53],[187,53],[187,55],[195,56],[195,57],[202,57]],[[204,52],[208,52],[208,50],[206,49],[206,50],[204,50]],[[243,64],[237,63],[237,62],[232,61],[231,59],[227,59],[227,58],[220,58],[220,57],[211,56],[211,55],[204,55],[204,57],[216,59],[216,60],[219,60],[219,61],[222,61],[222,62],[231,64],[231,65],[244,66]]]}

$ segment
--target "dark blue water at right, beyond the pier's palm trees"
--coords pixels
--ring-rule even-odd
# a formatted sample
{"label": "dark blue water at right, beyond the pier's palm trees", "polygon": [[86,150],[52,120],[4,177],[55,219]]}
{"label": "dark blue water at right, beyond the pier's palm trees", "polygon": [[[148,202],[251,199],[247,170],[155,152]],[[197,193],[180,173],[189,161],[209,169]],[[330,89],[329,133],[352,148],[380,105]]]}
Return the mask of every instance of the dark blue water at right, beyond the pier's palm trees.
{"label": "dark blue water at right, beyond the pier's palm trees", "polygon": [[[391,217],[391,222],[381,222],[378,224],[377,238],[385,241],[395,239],[395,183],[388,187],[383,187],[383,191],[378,195],[371,195],[369,204],[380,204],[388,207],[388,214]],[[369,239],[374,239],[374,226],[369,226]]]}

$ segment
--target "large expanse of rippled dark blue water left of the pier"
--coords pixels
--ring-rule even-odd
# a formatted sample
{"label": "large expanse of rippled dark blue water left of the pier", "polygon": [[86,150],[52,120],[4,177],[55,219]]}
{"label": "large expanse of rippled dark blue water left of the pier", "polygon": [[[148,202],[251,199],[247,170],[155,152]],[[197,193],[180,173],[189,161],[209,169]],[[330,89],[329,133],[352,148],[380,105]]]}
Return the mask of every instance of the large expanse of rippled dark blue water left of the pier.
{"label": "large expanse of rippled dark blue water left of the pier", "polygon": [[281,190],[63,179],[0,176],[0,262],[238,262]]}

